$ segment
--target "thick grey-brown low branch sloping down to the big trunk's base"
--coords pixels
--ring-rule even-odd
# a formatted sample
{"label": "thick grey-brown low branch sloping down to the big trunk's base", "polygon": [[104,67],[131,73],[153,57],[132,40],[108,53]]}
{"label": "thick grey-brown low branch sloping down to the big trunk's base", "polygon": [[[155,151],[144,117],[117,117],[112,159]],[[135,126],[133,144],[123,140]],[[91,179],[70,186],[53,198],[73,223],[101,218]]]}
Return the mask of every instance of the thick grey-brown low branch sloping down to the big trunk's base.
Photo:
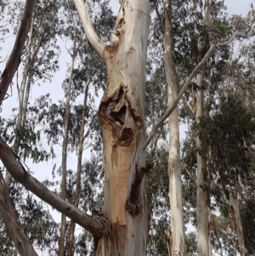
{"label": "thick grey-brown low branch sloping down to the big trunk's base", "polygon": [[105,227],[99,219],[82,213],[81,210],[74,207],[71,203],[66,202],[60,196],[54,194],[54,192],[49,191],[41,182],[26,172],[25,168],[17,160],[17,157],[8,145],[4,144],[3,140],[0,140],[0,159],[5,168],[7,168],[8,173],[16,181],[24,185],[27,190],[41,198],[44,202],[47,202],[60,213],[65,214],[65,216],[75,221],[78,225],[81,225],[95,237],[99,238],[103,236]]}

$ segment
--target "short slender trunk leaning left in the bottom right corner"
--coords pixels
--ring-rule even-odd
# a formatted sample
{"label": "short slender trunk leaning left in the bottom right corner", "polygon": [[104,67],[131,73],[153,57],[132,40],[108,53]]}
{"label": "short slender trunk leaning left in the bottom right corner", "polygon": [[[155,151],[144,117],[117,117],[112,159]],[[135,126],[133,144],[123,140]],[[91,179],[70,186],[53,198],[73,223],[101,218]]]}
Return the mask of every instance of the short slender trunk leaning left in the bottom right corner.
{"label": "short slender trunk leaning left in the bottom right corner", "polygon": [[241,214],[240,214],[240,208],[239,208],[239,202],[237,198],[237,190],[235,188],[235,191],[230,192],[230,206],[234,213],[234,219],[235,219],[235,225],[237,228],[237,234],[238,234],[238,242],[239,242],[239,249],[240,249],[240,255],[245,256],[246,255],[246,247],[245,247],[245,241],[243,236],[243,229],[242,229],[242,223],[241,223]]}

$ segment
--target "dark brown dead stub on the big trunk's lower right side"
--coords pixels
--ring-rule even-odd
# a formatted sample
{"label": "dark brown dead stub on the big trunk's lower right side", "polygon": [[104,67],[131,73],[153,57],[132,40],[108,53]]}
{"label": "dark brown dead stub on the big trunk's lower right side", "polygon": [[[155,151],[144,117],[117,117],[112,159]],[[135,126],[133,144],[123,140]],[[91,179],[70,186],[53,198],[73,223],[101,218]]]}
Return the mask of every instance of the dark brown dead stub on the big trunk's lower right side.
{"label": "dark brown dead stub on the big trunk's lower right side", "polygon": [[140,203],[139,190],[140,185],[144,179],[144,175],[148,173],[151,168],[153,168],[153,164],[148,164],[145,167],[141,168],[139,168],[138,165],[136,165],[133,184],[131,185],[130,195],[126,202],[127,212],[133,216],[137,216],[143,210],[142,204]]}

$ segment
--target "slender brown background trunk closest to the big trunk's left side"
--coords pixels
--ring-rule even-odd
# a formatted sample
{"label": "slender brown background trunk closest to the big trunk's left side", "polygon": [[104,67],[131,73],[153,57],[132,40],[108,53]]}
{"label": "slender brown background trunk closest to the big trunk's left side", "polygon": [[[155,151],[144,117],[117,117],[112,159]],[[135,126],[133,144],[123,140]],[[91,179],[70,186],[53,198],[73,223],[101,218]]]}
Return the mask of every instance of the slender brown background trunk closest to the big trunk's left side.
{"label": "slender brown background trunk closest to the big trunk's left side", "polygon": [[[79,206],[79,198],[80,198],[80,192],[81,192],[82,151],[83,151],[83,141],[84,141],[84,127],[86,122],[85,115],[87,111],[88,86],[89,86],[89,80],[86,83],[86,88],[85,88],[83,108],[82,108],[82,124],[81,124],[80,137],[79,137],[79,149],[78,149],[78,161],[77,161],[77,190],[74,198],[74,206],[77,208]],[[73,220],[71,220],[67,256],[71,256],[73,253],[75,227],[76,227],[76,223]]]}

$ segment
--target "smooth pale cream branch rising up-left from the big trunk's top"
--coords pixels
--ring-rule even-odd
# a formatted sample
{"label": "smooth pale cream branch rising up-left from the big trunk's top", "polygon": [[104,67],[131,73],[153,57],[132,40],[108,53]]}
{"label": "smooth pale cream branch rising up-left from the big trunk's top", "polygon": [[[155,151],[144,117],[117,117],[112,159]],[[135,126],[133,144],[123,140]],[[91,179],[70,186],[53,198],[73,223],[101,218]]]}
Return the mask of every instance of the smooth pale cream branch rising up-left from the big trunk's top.
{"label": "smooth pale cream branch rising up-left from the big trunk's top", "polygon": [[99,54],[100,58],[104,60],[104,48],[105,44],[102,43],[97,33],[94,31],[94,26],[90,20],[88,10],[83,0],[73,0],[77,7],[78,14],[82,20],[82,26],[84,28],[88,42],[93,46],[94,50]]}

